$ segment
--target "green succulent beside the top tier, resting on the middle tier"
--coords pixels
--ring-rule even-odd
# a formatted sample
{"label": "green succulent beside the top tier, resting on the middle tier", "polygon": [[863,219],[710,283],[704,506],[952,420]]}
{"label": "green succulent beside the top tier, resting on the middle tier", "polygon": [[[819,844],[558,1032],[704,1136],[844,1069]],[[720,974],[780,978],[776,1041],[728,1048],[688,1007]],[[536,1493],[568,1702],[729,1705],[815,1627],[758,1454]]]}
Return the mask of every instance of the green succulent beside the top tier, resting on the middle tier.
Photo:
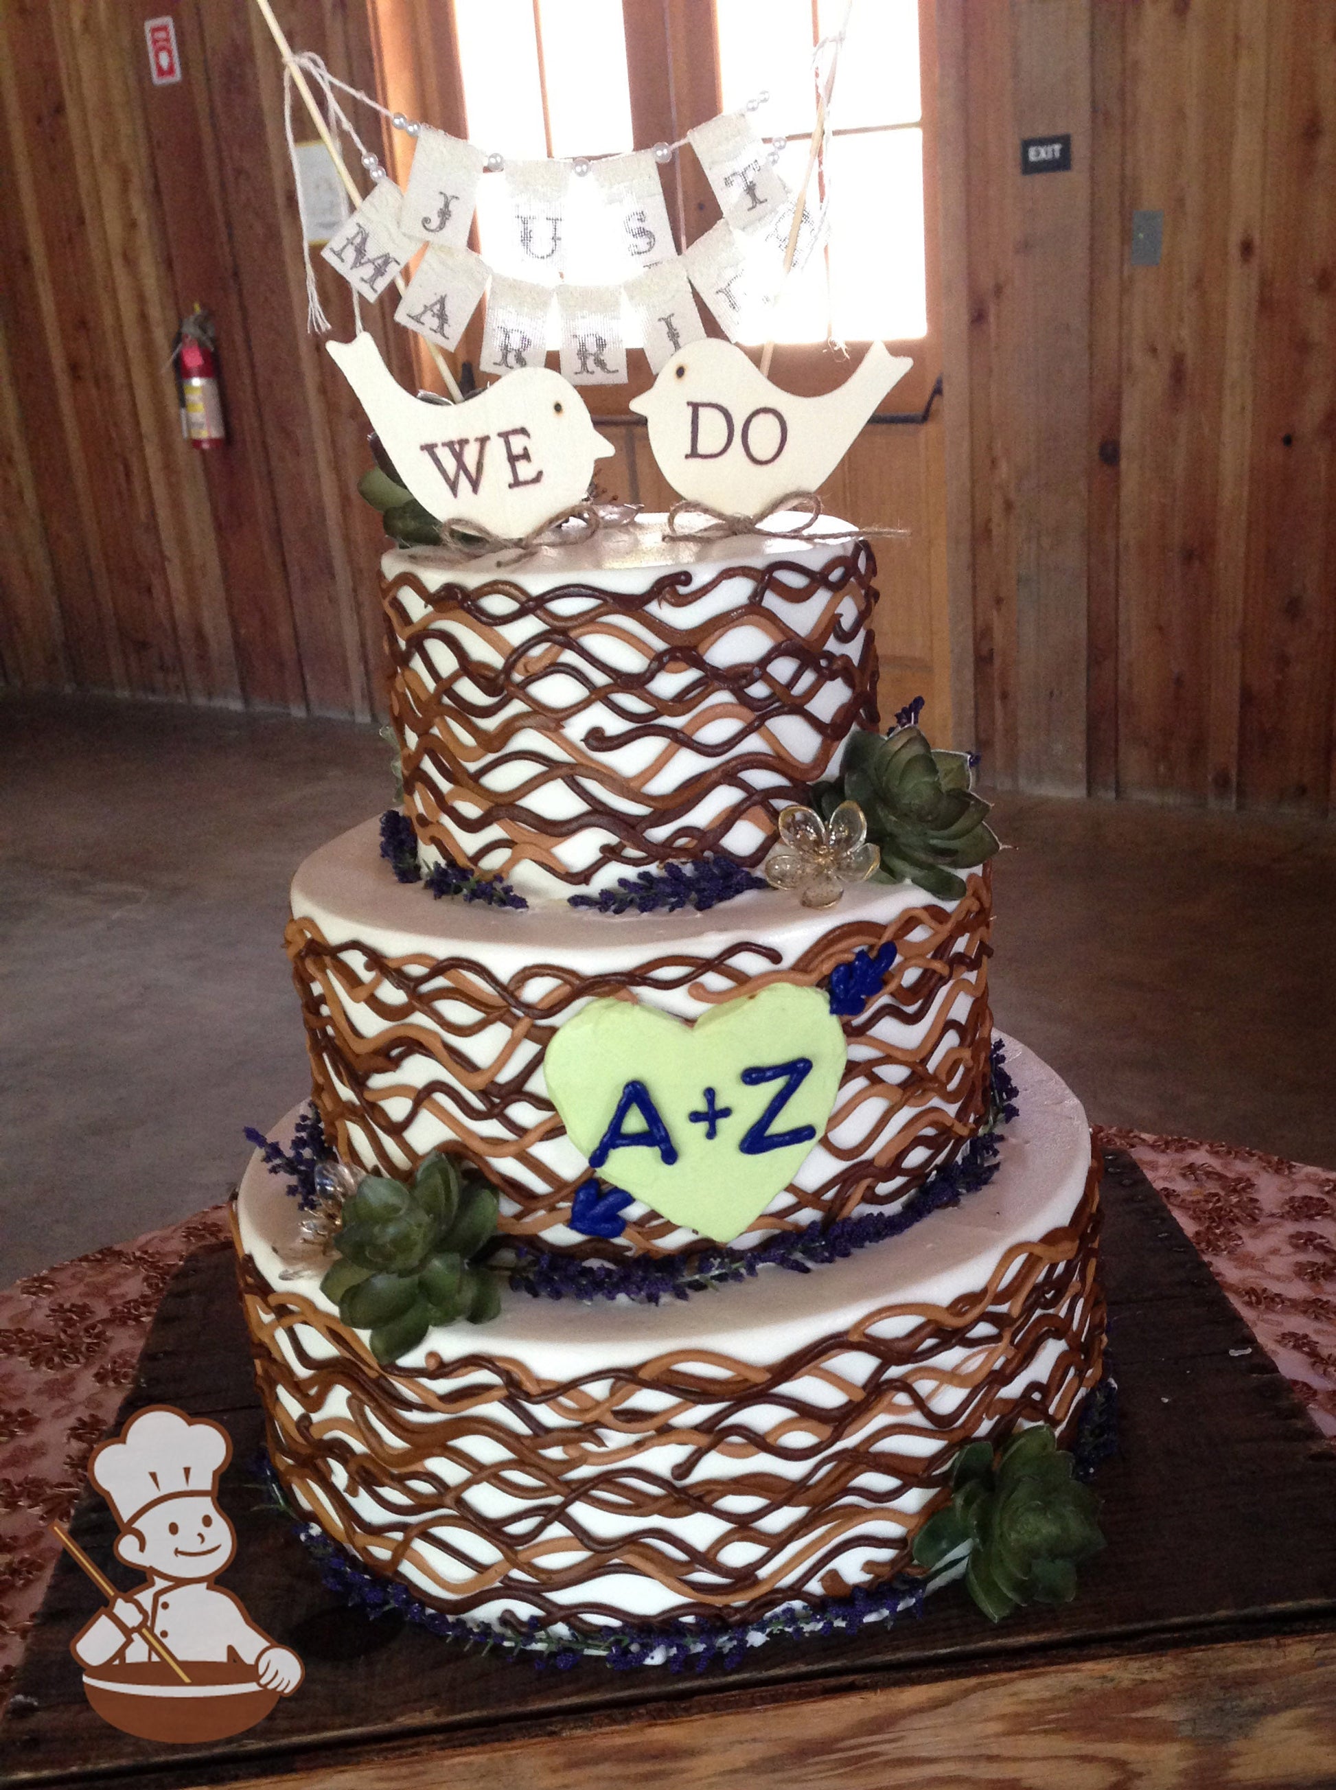
{"label": "green succulent beside the top tier, resting on the middle tier", "polygon": [[999,850],[985,825],[989,804],[972,780],[967,752],[933,752],[913,723],[890,734],[854,730],[840,779],[817,784],[813,806],[831,820],[842,802],[856,802],[881,850],[883,877],[956,900],[965,893],[956,872]]}

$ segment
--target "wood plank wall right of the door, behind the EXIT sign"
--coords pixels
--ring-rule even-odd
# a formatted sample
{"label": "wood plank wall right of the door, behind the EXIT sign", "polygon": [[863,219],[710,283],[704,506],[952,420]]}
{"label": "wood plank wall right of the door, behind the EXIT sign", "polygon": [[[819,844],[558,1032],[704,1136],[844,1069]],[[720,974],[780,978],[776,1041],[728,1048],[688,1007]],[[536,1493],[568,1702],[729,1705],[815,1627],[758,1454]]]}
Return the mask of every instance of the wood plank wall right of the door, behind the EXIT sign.
{"label": "wood plank wall right of the door, behind the EXIT sign", "polygon": [[[1336,5],[938,0],[938,25],[987,773],[1331,811]],[[1021,177],[1055,131],[1073,172]],[[1159,267],[1130,265],[1137,209]]]}

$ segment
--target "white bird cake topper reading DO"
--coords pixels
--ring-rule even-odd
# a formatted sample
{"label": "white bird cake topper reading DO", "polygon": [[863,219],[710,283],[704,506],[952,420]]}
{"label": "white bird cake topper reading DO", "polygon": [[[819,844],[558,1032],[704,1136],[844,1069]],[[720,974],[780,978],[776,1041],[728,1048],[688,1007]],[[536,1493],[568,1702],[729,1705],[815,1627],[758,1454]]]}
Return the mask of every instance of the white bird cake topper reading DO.
{"label": "white bird cake topper reading DO", "polygon": [[913,365],[872,342],[844,385],[795,397],[772,385],[743,349],[691,342],[643,397],[659,471],[689,503],[761,516],[790,490],[829,478],[886,392]]}

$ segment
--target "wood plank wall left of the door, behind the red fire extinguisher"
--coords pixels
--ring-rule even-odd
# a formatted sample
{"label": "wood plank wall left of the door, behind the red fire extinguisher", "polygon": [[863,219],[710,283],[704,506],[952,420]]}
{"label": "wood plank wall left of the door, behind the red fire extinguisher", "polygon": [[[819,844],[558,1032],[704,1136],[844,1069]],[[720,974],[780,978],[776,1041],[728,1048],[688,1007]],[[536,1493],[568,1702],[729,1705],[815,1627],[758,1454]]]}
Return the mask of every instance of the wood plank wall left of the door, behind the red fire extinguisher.
{"label": "wood plank wall left of the door, behind the red fire extinguisher", "polygon": [[[365,422],[304,328],[279,64],[249,4],[170,11],[184,79],[154,88],[143,20],[161,0],[0,7],[0,671],[369,716]],[[362,0],[278,11],[374,82]],[[351,329],[347,288],[319,279]],[[213,451],[181,440],[168,367],[195,301],[220,337],[231,446]]]}

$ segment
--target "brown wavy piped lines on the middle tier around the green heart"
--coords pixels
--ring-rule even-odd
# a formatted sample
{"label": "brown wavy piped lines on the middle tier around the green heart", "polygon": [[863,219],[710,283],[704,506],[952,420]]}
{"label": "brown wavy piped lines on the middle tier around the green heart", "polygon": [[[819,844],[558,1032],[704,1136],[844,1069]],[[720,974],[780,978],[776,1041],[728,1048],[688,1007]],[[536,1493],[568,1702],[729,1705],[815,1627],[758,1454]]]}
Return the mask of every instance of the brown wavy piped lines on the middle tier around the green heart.
{"label": "brown wavy piped lines on the middle tier around the green heart", "polygon": [[[573,1002],[686,984],[693,999],[707,1004],[756,993],[772,981],[815,984],[856,949],[874,950],[890,938],[899,958],[883,992],[863,1013],[844,1020],[858,1049],[845,1065],[833,1128],[861,1113],[856,1142],[831,1138],[827,1151],[840,1169],[815,1189],[790,1187],[788,1203],[749,1233],[759,1235],[813,1217],[833,1223],[860,1205],[892,1205],[965,1147],[989,1097],[989,913],[983,874],[971,879],[967,895],[951,911],[924,904],[886,925],[836,925],[784,970],[772,947],[740,940],[709,959],[677,952],[636,970],[589,977],[539,963],[503,983],[464,956],[385,958],[360,940],[331,945],[312,920],[288,925],[288,954],[306,1022],[315,1103],[338,1155],[365,1160],[369,1151],[385,1172],[415,1167],[421,1153],[408,1146],[407,1135],[428,1115],[451,1147],[507,1196],[501,1228],[516,1237],[539,1237],[570,1219],[578,1185],[578,1178],[564,1180],[548,1169],[541,1155],[544,1140],[561,1133],[561,1122],[535,1087],[543,1053]],[[963,1020],[951,1017],[962,992],[969,995]],[[367,1022],[373,1015],[374,1026]],[[874,1027],[883,1022],[926,1026],[917,1051],[876,1038]],[[466,1049],[476,1035],[503,1040],[485,1063]],[[430,1058],[435,1074],[423,1074],[423,1058]],[[390,1101],[407,1103],[396,1119],[389,1117]],[[926,1155],[910,1167],[906,1158],[919,1149]],[[647,1214],[630,1221],[621,1239],[584,1239],[571,1253],[604,1258],[663,1253],[672,1248],[673,1233],[666,1219]]]}

